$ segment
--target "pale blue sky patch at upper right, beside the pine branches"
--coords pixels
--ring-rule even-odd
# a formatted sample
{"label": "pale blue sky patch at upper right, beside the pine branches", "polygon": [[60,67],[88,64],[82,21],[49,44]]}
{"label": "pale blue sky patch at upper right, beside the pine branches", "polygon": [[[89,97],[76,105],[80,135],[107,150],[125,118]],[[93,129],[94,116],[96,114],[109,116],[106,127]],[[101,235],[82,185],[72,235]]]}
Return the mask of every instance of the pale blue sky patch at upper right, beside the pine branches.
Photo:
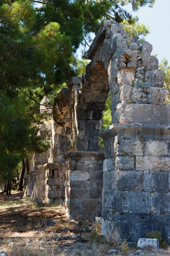
{"label": "pale blue sky patch at upper right, beside the pine branches", "polygon": [[[153,45],[151,54],[158,54],[159,62],[166,58],[170,65],[170,0],[156,0],[153,7],[148,5],[133,12],[131,5],[125,6],[128,12],[133,16],[139,17],[139,23],[149,26],[150,33],[145,41]],[[81,50],[77,51],[80,58]]]}

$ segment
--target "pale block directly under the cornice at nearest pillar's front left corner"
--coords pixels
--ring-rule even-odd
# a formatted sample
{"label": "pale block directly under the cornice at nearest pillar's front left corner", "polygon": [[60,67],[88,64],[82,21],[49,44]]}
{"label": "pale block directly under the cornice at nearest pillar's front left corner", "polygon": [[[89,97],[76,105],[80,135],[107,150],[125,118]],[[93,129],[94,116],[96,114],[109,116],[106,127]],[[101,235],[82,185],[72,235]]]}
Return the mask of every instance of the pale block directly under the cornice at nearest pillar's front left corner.
{"label": "pale block directly under the cornice at nearest pillar's front left corner", "polygon": [[144,145],[142,139],[123,139],[116,140],[116,155],[142,156]]}

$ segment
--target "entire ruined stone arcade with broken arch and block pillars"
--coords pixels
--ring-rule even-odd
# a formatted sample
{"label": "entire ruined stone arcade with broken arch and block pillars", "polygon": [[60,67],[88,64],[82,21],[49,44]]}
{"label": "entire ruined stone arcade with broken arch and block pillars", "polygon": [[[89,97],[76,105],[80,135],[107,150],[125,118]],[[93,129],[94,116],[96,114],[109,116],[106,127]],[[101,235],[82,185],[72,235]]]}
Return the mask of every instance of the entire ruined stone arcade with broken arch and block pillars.
{"label": "entire ruined stone arcade with broken arch and block pillars", "polygon": [[[41,198],[64,203],[71,219],[102,214],[106,239],[115,230],[131,242],[160,230],[170,243],[170,105],[151,52],[105,21],[86,74],[55,99],[49,159],[34,167]],[[100,131],[109,91],[112,125]]]}

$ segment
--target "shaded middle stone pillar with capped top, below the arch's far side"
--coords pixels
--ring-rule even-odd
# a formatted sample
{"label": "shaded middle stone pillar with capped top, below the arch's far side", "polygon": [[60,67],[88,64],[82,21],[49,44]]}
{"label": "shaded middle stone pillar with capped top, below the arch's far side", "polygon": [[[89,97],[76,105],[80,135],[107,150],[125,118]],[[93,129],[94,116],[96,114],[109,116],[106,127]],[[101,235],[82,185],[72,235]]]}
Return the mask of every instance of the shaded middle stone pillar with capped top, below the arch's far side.
{"label": "shaded middle stone pillar with capped top, below the arch's far side", "polygon": [[70,219],[85,220],[101,214],[104,155],[94,151],[68,151],[65,208]]}

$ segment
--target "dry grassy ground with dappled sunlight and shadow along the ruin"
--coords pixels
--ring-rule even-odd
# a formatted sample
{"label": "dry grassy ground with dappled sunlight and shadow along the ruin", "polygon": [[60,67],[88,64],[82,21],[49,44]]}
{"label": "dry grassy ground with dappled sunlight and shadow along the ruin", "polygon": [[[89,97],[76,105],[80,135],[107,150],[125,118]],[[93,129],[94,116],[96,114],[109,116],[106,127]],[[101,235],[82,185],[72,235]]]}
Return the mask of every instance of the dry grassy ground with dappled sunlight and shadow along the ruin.
{"label": "dry grassy ground with dappled sunlight and shadow along the ruin", "polygon": [[[113,256],[118,249],[123,256],[170,256],[170,250],[142,250],[119,244],[117,238],[107,243],[101,224],[69,221],[60,206],[36,206],[23,200],[23,192],[0,194],[0,250],[8,256]],[[143,253],[143,254],[141,254]]]}

